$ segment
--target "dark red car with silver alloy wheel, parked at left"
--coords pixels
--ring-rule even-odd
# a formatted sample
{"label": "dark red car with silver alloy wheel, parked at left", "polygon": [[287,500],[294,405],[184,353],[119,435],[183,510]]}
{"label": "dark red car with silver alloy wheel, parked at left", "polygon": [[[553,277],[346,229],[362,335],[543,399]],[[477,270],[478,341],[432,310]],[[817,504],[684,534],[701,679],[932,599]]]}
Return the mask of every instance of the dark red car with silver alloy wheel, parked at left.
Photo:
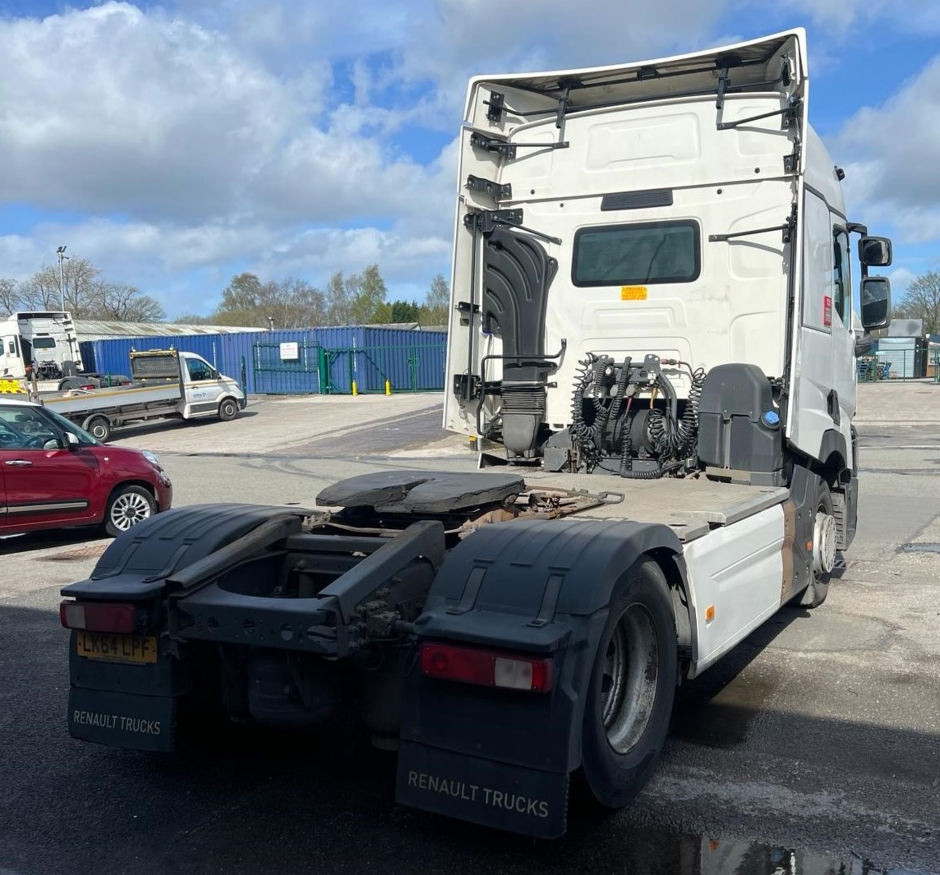
{"label": "dark red car with silver alloy wheel, parked at left", "polygon": [[0,397],[0,535],[102,525],[117,536],[172,501],[153,453],[100,444],[39,404]]}

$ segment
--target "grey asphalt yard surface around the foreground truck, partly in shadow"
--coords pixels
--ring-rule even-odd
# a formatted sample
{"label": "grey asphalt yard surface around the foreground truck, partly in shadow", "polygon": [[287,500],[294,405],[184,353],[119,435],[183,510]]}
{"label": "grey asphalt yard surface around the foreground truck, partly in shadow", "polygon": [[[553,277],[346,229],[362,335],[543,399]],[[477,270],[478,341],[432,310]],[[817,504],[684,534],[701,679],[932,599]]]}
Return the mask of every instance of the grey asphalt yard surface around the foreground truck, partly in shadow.
{"label": "grey asphalt yard surface around the foreground truck, partly in shadow", "polygon": [[[940,871],[940,387],[870,389],[858,535],[827,602],[683,686],[635,804],[575,797],[556,842],[395,805],[394,755],[354,727],[232,727],[177,758],[71,740],[58,591],[107,541],[0,541],[0,873]],[[312,506],[340,477],[472,469],[439,398],[264,401],[120,441],[161,452],[178,506]]]}

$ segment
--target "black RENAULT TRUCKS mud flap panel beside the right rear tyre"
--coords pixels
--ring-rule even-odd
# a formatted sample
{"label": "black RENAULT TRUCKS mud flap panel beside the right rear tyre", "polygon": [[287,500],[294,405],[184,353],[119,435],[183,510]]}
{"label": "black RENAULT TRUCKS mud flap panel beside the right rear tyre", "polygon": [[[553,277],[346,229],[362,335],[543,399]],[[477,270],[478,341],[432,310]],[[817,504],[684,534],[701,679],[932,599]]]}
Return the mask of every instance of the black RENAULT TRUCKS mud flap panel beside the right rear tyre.
{"label": "black RENAULT TRUCKS mud flap panel beside the right rear tyre", "polygon": [[401,742],[396,801],[536,838],[564,835],[567,774]]}

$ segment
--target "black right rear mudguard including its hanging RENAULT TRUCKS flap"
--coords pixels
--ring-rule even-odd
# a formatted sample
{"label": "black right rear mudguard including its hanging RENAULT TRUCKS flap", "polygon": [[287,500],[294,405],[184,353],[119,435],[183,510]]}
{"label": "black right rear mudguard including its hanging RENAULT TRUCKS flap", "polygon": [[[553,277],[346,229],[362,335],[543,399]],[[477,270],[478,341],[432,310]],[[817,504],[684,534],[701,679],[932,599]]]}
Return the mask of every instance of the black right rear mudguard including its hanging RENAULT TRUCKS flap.
{"label": "black right rear mudguard including its hanging RENAULT TRUCKS flap", "polygon": [[451,551],[417,620],[419,643],[552,654],[556,680],[538,694],[431,679],[413,665],[398,801],[529,836],[562,835],[611,594],[650,551],[670,555],[684,577],[682,544],[659,524],[498,523]]}

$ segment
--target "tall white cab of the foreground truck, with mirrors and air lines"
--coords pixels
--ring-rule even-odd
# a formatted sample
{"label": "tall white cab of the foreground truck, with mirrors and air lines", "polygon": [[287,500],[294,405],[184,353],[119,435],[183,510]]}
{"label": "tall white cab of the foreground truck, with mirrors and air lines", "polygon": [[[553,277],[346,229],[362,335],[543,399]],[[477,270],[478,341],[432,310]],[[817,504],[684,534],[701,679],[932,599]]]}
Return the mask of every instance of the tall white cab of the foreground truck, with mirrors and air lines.
{"label": "tall white cab of the foreground truck, with mirrors and air lines", "polygon": [[[884,327],[867,272],[890,242],[846,215],[808,98],[799,28],[471,80],[445,427],[556,470],[788,485],[802,465],[853,501],[854,286]],[[681,452],[655,433],[670,405]]]}

